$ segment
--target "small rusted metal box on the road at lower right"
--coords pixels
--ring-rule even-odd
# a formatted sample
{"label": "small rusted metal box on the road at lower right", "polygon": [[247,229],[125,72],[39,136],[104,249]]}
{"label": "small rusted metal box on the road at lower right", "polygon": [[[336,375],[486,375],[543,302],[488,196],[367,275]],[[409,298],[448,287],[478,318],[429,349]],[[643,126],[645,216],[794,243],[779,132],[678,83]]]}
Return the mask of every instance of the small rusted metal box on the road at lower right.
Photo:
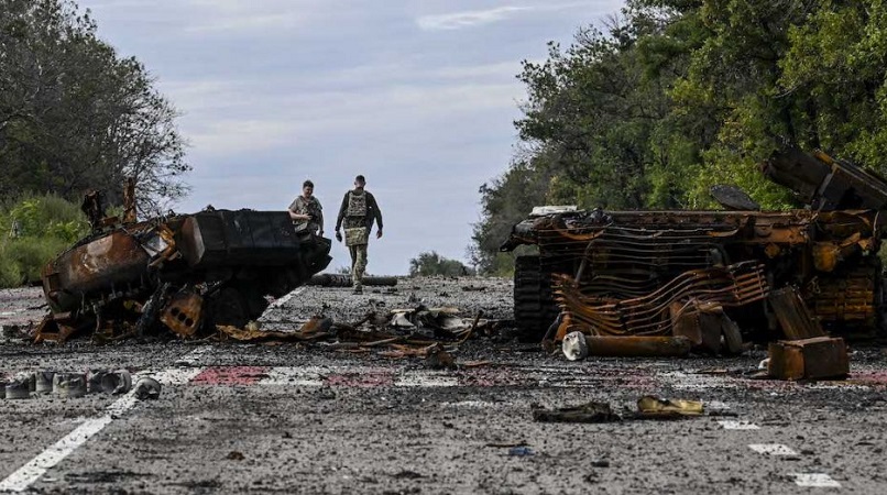
{"label": "small rusted metal box on the road at lower right", "polygon": [[850,373],[844,339],[815,337],[769,345],[767,372],[779,380],[842,378]]}

